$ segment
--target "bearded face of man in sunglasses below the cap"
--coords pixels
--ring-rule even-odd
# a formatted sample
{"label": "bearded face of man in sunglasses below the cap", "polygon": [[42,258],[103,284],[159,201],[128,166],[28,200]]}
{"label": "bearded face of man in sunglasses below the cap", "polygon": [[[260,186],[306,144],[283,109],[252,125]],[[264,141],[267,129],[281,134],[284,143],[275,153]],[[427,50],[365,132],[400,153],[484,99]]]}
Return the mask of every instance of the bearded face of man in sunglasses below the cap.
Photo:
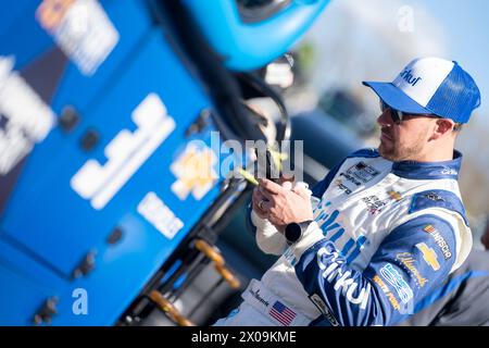
{"label": "bearded face of man in sunglasses below the cap", "polygon": [[390,161],[413,160],[419,157],[431,136],[435,119],[424,115],[405,115],[400,124],[394,123],[390,110],[378,117],[380,126],[380,156]]}

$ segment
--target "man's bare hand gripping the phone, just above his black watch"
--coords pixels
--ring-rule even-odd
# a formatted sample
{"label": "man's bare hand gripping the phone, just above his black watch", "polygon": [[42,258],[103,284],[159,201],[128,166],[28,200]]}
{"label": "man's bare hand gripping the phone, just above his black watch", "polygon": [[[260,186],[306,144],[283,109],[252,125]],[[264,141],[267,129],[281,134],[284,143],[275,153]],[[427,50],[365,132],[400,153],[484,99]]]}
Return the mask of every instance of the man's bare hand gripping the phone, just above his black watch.
{"label": "man's bare hand gripping the phone, just above his black watch", "polygon": [[[260,186],[255,188],[256,195],[253,192],[253,208],[256,198],[256,208],[260,213],[264,216],[266,214],[266,219],[279,231],[283,229],[279,227],[291,222],[313,220],[311,196],[305,189],[291,190],[290,183],[288,187],[284,187],[266,178],[259,179],[259,183]],[[259,214],[259,211],[255,211]]]}

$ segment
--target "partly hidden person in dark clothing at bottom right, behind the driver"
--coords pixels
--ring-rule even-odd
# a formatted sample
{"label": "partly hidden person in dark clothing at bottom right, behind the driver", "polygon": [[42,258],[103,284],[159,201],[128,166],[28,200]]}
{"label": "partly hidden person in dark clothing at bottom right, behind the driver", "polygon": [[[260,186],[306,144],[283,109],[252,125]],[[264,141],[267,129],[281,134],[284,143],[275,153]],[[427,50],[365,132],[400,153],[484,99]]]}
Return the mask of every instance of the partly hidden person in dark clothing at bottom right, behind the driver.
{"label": "partly hidden person in dark clothing at bottom right, behind the driver", "polygon": [[462,266],[434,289],[402,325],[489,326],[489,221],[480,238],[486,250],[473,249]]}

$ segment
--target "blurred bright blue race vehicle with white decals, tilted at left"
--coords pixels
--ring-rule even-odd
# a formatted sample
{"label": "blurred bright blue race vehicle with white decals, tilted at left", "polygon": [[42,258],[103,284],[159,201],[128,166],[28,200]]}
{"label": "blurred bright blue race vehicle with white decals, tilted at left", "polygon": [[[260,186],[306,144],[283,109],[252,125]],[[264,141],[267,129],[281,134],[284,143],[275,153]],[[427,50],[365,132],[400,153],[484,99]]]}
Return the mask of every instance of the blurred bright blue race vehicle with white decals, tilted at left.
{"label": "blurred bright blue race vehicle with white decals, tilted at left", "polygon": [[204,263],[239,288],[214,227],[251,185],[213,135],[265,138],[256,71],[327,3],[1,0],[0,325],[190,325]]}

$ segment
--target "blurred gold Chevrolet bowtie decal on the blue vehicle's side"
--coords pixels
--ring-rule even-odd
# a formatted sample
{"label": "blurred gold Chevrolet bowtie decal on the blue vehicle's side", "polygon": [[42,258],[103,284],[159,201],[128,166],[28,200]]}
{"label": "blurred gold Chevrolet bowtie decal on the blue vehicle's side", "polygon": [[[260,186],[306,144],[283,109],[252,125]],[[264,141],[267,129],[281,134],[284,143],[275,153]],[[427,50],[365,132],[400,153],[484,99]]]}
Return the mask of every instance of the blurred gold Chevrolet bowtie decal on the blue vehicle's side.
{"label": "blurred gold Chevrolet bowtie decal on the blue vehicle's side", "polygon": [[177,177],[172,191],[180,200],[185,200],[190,192],[197,200],[202,199],[217,181],[216,163],[217,158],[211,148],[188,145],[170,167]]}

